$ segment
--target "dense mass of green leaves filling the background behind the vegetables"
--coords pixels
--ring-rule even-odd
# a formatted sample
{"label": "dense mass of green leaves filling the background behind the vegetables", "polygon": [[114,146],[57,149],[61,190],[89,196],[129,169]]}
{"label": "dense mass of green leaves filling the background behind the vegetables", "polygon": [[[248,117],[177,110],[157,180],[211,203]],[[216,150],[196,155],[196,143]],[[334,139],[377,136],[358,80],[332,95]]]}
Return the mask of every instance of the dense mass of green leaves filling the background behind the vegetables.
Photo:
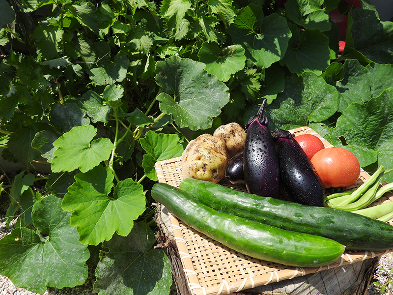
{"label": "dense mass of green leaves filling the background behind the vegetables", "polygon": [[26,165],[0,184],[18,217],[0,273],[18,287],[82,284],[97,257],[99,294],[168,294],[154,163],[264,98],[271,129],[310,126],[369,173],[393,166],[393,23],[366,0],[0,5],[0,145]]}

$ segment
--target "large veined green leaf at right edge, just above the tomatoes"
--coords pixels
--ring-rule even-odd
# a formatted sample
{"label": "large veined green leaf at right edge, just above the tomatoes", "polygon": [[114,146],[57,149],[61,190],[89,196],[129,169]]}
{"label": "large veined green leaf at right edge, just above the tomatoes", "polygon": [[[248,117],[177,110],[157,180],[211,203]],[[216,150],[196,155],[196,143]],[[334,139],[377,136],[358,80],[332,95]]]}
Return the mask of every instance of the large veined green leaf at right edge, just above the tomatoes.
{"label": "large veined green leaf at right edge, just above the tomatoes", "polygon": [[[361,114],[361,116],[359,115]],[[393,167],[393,88],[366,103],[351,103],[331,129],[332,144],[341,146],[340,137],[358,158],[361,167],[376,161],[386,169]],[[387,174],[384,179],[393,181]]]}

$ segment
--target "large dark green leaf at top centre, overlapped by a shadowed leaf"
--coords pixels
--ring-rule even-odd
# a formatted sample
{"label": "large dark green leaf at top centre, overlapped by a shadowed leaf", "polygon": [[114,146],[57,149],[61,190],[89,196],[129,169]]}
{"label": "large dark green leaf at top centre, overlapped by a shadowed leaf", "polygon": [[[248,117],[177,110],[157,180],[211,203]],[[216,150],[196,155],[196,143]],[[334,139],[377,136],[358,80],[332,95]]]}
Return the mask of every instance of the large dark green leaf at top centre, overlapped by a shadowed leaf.
{"label": "large dark green leaf at top centre, overlapped by a shadowed leaf", "polygon": [[291,32],[284,17],[276,13],[263,17],[258,8],[250,4],[241,10],[240,19],[228,31],[233,42],[244,47],[248,59],[268,68],[284,57]]}

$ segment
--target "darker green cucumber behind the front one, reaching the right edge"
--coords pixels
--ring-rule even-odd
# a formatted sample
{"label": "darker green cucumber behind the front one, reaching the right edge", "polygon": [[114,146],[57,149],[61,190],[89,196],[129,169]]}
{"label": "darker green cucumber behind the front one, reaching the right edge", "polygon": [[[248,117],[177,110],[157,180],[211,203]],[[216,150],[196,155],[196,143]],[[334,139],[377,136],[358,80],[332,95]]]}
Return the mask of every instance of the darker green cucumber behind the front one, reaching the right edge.
{"label": "darker green cucumber behind the front one, reaching the right edge", "polygon": [[220,184],[186,178],[180,189],[218,211],[288,231],[336,240],[351,250],[393,248],[393,227],[356,213],[296,204],[239,192]]}

